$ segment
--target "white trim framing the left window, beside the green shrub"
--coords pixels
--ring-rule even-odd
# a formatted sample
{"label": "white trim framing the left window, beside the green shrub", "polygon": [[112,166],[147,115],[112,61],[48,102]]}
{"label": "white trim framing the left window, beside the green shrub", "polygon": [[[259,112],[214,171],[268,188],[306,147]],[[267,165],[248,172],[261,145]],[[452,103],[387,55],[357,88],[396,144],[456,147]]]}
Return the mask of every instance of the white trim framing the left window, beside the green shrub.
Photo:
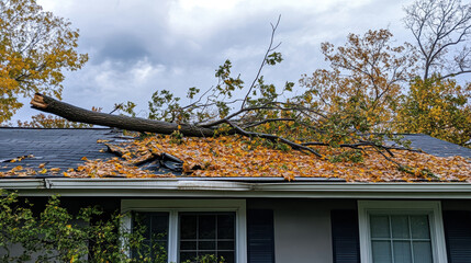
{"label": "white trim framing the left window, beside the green shrub", "polygon": [[127,216],[123,220],[124,229],[131,229],[132,218],[128,211],[168,211],[168,262],[178,259],[178,213],[179,211],[235,211],[236,214],[236,261],[247,262],[247,226],[245,199],[122,199],[121,213]]}

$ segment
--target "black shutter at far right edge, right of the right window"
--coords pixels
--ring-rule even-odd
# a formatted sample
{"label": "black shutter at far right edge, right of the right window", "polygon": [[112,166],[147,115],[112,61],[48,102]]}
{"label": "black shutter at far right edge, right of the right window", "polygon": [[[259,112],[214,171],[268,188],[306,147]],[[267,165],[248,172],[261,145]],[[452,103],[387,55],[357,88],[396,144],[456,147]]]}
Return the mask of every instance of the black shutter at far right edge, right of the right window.
{"label": "black shutter at far right edge, right of the right window", "polygon": [[448,263],[471,263],[471,211],[444,211]]}

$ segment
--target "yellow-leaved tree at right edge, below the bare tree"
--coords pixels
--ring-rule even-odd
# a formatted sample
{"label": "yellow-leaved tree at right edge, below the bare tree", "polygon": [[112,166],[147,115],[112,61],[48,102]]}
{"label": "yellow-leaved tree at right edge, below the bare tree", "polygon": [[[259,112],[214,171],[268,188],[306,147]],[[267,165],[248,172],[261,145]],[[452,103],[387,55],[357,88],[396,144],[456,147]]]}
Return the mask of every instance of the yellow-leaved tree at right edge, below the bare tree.
{"label": "yellow-leaved tree at right edge, below the bare tree", "polygon": [[471,136],[471,84],[461,87],[455,80],[419,78],[411,88],[397,111],[400,133],[422,133],[464,145]]}

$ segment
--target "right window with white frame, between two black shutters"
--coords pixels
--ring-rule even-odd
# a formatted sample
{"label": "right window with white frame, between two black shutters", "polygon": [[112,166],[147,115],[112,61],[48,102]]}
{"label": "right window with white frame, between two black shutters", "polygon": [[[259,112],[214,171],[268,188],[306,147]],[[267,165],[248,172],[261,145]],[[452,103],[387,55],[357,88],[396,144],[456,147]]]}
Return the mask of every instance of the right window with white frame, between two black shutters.
{"label": "right window with white frame, between two black shutters", "polygon": [[439,202],[358,202],[363,263],[446,263]]}

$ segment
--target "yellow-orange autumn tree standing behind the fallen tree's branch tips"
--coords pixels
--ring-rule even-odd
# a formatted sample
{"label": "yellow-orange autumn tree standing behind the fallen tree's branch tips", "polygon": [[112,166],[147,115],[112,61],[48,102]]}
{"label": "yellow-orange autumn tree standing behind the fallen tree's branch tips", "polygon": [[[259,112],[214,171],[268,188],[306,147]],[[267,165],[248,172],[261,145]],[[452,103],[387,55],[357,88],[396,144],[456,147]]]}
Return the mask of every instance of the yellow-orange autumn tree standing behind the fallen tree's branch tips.
{"label": "yellow-orange autumn tree standing behind the fallen tree's branch tips", "polygon": [[334,118],[338,134],[388,133],[402,85],[414,73],[416,58],[411,50],[408,44],[392,45],[388,30],[349,34],[344,46],[323,43],[329,68],[303,76],[300,82],[306,91],[301,103]]}

